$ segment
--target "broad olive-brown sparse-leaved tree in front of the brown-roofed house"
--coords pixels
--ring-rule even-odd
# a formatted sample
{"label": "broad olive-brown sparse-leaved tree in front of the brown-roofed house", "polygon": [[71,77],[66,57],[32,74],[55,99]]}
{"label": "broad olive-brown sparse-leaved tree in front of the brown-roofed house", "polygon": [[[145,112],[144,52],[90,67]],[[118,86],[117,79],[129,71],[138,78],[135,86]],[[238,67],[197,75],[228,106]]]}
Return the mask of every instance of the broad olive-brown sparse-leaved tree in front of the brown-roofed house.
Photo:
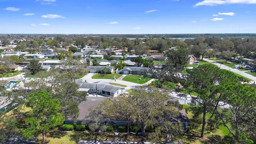
{"label": "broad olive-brown sparse-leaved tree in front of the brown-roofed house", "polygon": [[105,116],[110,119],[126,120],[140,127],[142,136],[146,136],[148,126],[158,126],[159,122],[172,121],[179,115],[178,102],[170,100],[168,92],[157,88],[139,88],[132,94],[123,94],[117,98],[102,102]]}

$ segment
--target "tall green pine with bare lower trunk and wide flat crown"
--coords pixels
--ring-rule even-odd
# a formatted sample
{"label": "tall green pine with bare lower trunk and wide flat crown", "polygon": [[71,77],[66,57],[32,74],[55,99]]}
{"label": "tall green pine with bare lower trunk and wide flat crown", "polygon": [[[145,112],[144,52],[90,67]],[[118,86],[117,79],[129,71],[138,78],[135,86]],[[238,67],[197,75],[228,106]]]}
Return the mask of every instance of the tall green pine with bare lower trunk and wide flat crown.
{"label": "tall green pine with bare lower trunk and wide flat crown", "polygon": [[[223,70],[213,64],[203,64],[194,68],[192,71],[188,70],[188,75],[181,80],[183,89],[177,88],[177,91],[185,90],[191,97],[194,104],[198,103],[199,108],[195,114],[203,114],[201,138],[204,138],[204,131],[206,123],[214,116],[220,104],[221,95],[218,91],[218,86],[228,82],[238,83],[238,77],[228,70]],[[192,92],[196,92],[198,96],[191,96]],[[187,97],[187,94],[178,94],[181,97]],[[212,114],[206,120],[206,114]]]}

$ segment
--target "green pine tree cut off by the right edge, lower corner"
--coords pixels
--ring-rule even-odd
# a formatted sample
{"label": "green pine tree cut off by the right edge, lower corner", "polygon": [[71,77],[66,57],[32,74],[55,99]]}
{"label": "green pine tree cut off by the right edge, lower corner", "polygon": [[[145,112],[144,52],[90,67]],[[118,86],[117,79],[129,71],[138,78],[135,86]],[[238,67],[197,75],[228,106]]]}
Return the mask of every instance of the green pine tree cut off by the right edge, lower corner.
{"label": "green pine tree cut off by the right edge, lower corner", "polygon": [[[216,109],[218,117],[228,128],[236,142],[253,143],[246,136],[246,133],[252,132],[252,130],[246,127],[248,125],[256,126],[254,119],[252,119],[255,117],[255,88],[248,86],[248,84],[228,83],[220,87],[220,92],[222,101],[227,104],[228,108],[225,110]],[[246,122],[249,123],[246,124]]]}

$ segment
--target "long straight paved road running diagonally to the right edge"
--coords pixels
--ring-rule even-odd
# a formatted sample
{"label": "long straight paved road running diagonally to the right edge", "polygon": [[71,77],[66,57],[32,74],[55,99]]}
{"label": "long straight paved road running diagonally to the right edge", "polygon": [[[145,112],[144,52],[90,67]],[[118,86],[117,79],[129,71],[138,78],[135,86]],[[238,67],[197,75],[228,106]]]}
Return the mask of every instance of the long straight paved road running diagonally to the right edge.
{"label": "long straight paved road running diagonally to the right edge", "polygon": [[214,62],[213,60],[210,60],[210,59],[208,59],[208,58],[204,58],[203,60],[206,61],[206,62],[211,62],[212,64],[215,64],[215,65],[217,65],[218,67],[220,67],[220,68],[222,68],[222,69],[230,70],[231,72],[234,72],[234,73],[236,73],[236,74],[240,74],[240,75],[242,75],[242,76],[244,76],[244,77],[246,77],[246,78],[249,78],[249,79],[252,80],[251,83],[253,83],[253,82],[256,81],[256,77],[255,77],[255,76],[252,76],[252,75],[250,75],[250,74],[247,74],[245,71],[240,71],[240,70],[238,70],[237,68],[230,68],[229,66],[225,66],[224,64],[220,64],[220,63],[218,63],[218,62]]}

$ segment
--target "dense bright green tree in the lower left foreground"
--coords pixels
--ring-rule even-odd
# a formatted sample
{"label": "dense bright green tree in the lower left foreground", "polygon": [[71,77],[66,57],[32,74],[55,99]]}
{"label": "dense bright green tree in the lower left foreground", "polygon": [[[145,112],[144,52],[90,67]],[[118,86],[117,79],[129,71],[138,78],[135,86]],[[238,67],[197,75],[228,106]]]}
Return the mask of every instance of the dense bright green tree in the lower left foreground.
{"label": "dense bright green tree in the lower left foreground", "polygon": [[33,92],[29,95],[26,106],[31,108],[25,114],[25,127],[22,128],[24,138],[33,138],[42,133],[42,144],[45,143],[46,132],[64,122],[60,110],[60,101],[52,98],[51,94],[43,91]]}

